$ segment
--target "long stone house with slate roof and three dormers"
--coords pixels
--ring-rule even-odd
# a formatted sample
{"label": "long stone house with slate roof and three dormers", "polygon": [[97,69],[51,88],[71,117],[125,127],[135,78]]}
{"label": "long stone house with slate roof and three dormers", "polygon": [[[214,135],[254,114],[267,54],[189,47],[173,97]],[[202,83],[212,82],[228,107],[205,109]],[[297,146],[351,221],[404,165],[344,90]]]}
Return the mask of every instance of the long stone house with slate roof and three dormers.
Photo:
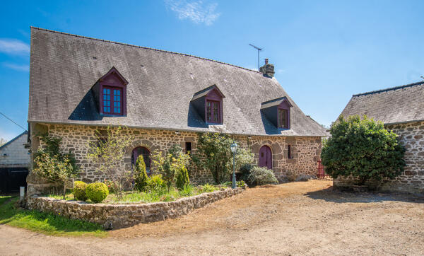
{"label": "long stone house with slate roof and three dormers", "polygon": [[[148,47],[31,28],[28,122],[35,136],[61,136],[79,178],[105,178],[86,159],[96,129],[124,125],[134,135],[122,164],[179,144],[196,153],[199,133],[230,134],[257,163],[284,180],[288,171],[316,175],[325,130],[306,116],[273,78],[240,66]],[[196,170],[194,183],[212,182]]]}

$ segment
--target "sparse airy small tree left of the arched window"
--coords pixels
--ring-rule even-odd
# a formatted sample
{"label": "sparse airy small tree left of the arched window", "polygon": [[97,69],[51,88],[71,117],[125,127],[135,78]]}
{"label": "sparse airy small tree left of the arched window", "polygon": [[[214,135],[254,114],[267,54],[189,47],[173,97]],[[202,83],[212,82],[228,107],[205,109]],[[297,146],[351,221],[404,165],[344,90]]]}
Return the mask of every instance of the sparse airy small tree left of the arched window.
{"label": "sparse airy small tree left of the arched window", "polygon": [[95,138],[88,144],[87,158],[98,163],[99,170],[116,184],[117,196],[122,198],[124,185],[131,178],[131,171],[126,170],[124,165],[124,156],[133,137],[126,127],[109,126],[104,135],[96,131]]}

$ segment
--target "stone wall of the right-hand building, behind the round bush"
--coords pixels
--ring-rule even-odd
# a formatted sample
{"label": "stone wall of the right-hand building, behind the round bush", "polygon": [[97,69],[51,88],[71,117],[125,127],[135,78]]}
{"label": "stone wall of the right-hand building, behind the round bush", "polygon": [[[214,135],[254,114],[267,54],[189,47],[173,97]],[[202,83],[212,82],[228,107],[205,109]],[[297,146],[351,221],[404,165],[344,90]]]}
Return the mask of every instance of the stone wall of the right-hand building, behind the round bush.
{"label": "stone wall of the right-hand building, behind the round bush", "polygon": [[[398,134],[399,142],[405,146],[406,167],[396,179],[370,185],[384,191],[424,193],[424,122],[392,124],[386,128]],[[337,178],[333,182],[338,187],[351,187],[355,180]]]}

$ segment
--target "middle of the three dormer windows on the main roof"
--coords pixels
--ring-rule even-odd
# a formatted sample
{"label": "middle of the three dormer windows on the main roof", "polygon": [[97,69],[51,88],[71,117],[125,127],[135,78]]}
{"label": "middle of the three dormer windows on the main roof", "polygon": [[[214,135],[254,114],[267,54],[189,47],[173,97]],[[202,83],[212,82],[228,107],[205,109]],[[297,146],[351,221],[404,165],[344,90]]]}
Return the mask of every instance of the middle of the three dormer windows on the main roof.
{"label": "middle of the three dormer windows on the main roof", "polygon": [[223,98],[216,85],[194,93],[190,103],[206,124],[223,124]]}

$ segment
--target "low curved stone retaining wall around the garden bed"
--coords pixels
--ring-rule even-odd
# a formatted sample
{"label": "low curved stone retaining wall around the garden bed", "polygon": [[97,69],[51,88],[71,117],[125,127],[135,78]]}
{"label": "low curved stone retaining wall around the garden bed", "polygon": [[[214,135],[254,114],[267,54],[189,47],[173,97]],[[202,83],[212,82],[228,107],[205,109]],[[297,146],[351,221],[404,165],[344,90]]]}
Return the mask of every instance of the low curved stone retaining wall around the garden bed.
{"label": "low curved stone retaining wall around the garden bed", "polygon": [[26,207],[60,214],[70,219],[83,219],[98,223],[106,229],[125,228],[137,223],[163,221],[168,218],[188,214],[206,204],[211,204],[225,197],[240,194],[244,188],[228,188],[215,192],[184,197],[174,202],[157,202],[149,204],[88,204],[81,201],[65,201],[51,197],[28,197]]}

